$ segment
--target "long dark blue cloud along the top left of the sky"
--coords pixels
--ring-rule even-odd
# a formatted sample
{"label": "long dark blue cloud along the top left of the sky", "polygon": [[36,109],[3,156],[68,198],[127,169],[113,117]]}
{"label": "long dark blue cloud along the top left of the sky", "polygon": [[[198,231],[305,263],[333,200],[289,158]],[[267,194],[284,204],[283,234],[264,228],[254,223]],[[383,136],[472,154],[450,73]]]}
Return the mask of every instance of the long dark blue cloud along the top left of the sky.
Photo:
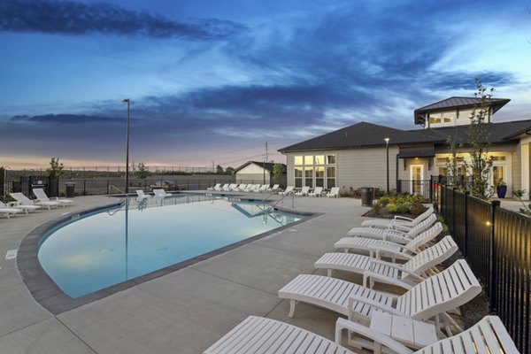
{"label": "long dark blue cloud along the top left of the sky", "polygon": [[64,35],[138,35],[152,38],[219,40],[246,27],[224,19],[173,19],[134,12],[112,4],[10,0],[0,3],[0,31]]}

